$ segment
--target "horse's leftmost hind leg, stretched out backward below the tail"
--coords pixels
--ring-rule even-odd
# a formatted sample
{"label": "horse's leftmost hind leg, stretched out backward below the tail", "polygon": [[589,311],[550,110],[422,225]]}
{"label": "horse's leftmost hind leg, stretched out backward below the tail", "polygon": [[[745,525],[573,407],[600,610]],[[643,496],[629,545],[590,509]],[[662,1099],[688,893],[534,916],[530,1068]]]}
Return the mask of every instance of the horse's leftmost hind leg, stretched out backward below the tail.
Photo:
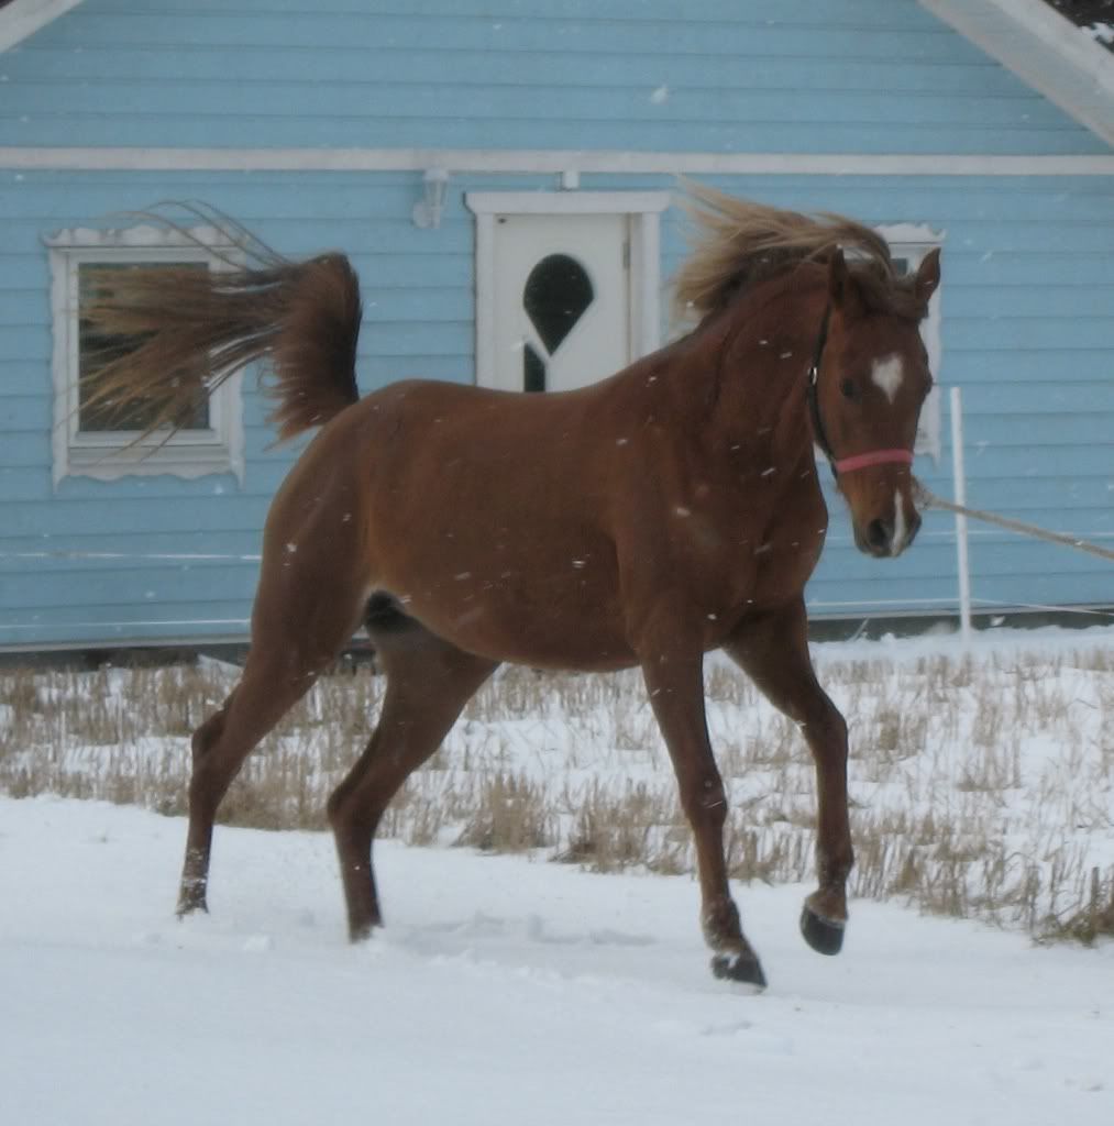
{"label": "horse's leftmost hind leg, stretched out backward below the tail", "polygon": [[194,733],[189,829],[178,914],[206,910],[213,822],[217,807],[258,742],[310,689],[359,622],[362,592],[291,575],[260,582],[252,643],[239,685]]}

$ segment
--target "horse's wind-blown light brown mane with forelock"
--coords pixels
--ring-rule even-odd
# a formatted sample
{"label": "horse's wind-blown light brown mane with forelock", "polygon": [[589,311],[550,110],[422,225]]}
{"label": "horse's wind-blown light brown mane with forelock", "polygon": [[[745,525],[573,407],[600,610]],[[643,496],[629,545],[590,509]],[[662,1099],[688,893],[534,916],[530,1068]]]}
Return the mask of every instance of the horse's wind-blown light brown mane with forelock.
{"label": "horse's wind-blown light brown mane with forelock", "polygon": [[693,252],[674,277],[674,311],[704,320],[740,294],[802,262],[827,265],[837,250],[867,307],[910,320],[925,315],[911,279],[898,276],[885,239],[843,215],[802,215],[685,181],[681,207],[695,223]]}

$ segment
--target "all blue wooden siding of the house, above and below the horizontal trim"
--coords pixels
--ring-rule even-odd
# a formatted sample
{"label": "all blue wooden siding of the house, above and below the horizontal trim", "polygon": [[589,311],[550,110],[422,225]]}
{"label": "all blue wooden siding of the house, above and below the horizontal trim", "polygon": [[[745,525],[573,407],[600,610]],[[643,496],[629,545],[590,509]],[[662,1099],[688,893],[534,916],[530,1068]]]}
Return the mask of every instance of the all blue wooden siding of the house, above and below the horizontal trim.
{"label": "all blue wooden siding of the house, above and below the horizontal trim", "polygon": [[[537,0],[503,5],[506,18],[465,0],[332,0],[312,17],[305,7],[241,0],[225,12],[214,0],[187,15],[87,0],[0,55],[0,145],[1105,151],[911,0],[562,3],[560,18]],[[666,100],[651,100],[662,86]],[[943,232],[939,376],[964,391],[972,503],[1114,537],[1114,181],[705,179],[783,206]],[[112,225],[112,213],[158,199],[205,199],[284,253],[351,256],[366,307],[365,391],[410,375],[471,382],[474,221],[463,194],[552,189],[554,179],[454,173],[430,231],[410,222],[419,185],[419,172],[0,167],[0,646],[242,636],[259,528],[297,448],[269,448],[266,404],[249,381],[242,488],[229,475],[72,477],[55,492],[43,238]],[[674,184],[583,176],[581,187]],[[674,211],[662,252],[668,274],[684,253]],[[948,494],[946,418],[944,438],[941,464],[917,468]],[[832,512],[809,588],[816,611],[954,606],[950,519],[929,516],[912,552],[879,563],[854,549],[838,499]],[[133,557],[65,557],[93,552]],[[30,553],[53,554],[16,557]],[[140,558],[158,554],[235,558]],[[1108,565],[1087,556],[978,528],[971,556],[986,606],[1114,601]]]}

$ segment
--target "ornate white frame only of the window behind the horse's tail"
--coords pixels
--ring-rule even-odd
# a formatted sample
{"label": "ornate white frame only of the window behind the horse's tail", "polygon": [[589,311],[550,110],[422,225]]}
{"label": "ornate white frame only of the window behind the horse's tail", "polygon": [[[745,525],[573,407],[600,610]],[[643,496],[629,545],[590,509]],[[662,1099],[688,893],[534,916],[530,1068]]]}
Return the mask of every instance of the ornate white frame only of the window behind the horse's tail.
{"label": "ornate white frame only of the window behind the horse's tail", "polygon": [[69,476],[116,481],[124,476],[171,474],[193,479],[232,473],[243,484],[243,410],[237,373],[210,397],[210,426],[155,431],[136,440],[134,430],[81,431],[78,270],[88,263],[204,262],[211,270],[231,269],[235,248],[215,227],[190,230],[151,225],[122,230],[61,231],[45,240],[51,265],[51,315],[54,327],[52,372],[54,488]]}

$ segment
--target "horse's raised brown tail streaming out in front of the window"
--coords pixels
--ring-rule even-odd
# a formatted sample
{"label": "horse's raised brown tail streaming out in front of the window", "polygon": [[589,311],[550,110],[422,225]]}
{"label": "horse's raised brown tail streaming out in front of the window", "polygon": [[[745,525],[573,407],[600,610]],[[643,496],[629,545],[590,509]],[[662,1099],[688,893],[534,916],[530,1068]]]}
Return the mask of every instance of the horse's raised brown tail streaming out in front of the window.
{"label": "horse's raised brown tail streaming out in front of the window", "polygon": [[273,374],[269,421],[279,440],[355,403],[363,311],[351,263],[341,253],[292,262],[260,247],[247,251],[252,265],[225,260],[226,269],[91,270],[81,315],[108,346],[83,404],[123,429],[135,429],[127,419],[142,408],[145,435],[178,430],[216,387],[259,359]]}

